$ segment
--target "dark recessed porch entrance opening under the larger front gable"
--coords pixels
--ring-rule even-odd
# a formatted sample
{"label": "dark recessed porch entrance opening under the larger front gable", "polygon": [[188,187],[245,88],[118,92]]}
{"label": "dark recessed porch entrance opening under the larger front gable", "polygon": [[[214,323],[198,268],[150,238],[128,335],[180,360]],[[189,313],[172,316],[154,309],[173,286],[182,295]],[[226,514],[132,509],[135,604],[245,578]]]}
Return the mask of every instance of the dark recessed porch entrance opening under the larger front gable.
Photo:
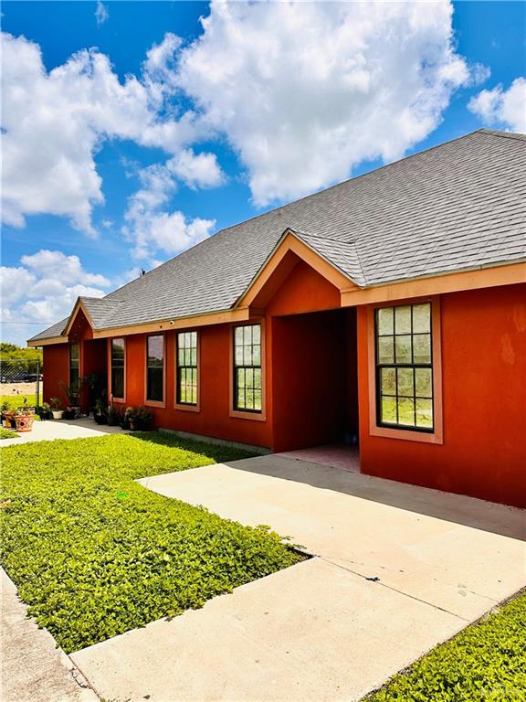
{"label": "dark recessed porch entrance opening under the larger front gable", "polygon": [[272,359],[274,451],[359,464],[356,310],[273,317]]}

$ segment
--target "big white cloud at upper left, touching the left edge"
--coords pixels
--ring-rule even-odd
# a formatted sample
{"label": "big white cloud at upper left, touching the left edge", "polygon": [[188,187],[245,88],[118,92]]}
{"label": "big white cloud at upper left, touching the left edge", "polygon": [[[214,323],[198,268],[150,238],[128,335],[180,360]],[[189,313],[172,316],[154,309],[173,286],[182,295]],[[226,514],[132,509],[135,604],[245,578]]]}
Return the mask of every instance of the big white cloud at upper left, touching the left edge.
{"label": "big white cloud at upper left, touching the left edge", "polygon": [[198,133],[192,112],[160,116],[167,93],[147,69],[121,82],[96,50],[47,72],[37,44],[3,33],[2,69],[3,220],[16,227],[47,213],[95,236],[91,212],[104,198],[94,154],[103,140],[178,154]]}

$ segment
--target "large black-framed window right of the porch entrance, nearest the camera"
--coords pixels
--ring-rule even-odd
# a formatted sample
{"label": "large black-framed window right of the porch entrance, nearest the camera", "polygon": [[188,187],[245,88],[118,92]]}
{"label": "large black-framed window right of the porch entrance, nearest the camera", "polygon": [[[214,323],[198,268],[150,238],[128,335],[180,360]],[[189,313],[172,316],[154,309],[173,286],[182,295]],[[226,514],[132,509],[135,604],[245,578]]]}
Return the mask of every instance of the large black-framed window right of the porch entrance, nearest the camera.
{"label": "large black-framed window right of the porch entrance, nearest the camera", "polygon": [[375,310],[379,426],[434,430],[432,314],[431,303]]}

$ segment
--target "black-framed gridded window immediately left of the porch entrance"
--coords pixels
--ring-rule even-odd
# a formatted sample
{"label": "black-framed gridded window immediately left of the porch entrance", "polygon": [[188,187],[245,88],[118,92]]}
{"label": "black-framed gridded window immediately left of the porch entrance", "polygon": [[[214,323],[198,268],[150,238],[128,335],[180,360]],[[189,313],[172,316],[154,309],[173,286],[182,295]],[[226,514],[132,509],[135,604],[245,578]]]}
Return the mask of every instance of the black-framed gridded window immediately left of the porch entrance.
{"label": "black-framed gridded window immediately left of the porch entrance", "polygon": [[261,325],[234,327],[234,410],[261,412]]}

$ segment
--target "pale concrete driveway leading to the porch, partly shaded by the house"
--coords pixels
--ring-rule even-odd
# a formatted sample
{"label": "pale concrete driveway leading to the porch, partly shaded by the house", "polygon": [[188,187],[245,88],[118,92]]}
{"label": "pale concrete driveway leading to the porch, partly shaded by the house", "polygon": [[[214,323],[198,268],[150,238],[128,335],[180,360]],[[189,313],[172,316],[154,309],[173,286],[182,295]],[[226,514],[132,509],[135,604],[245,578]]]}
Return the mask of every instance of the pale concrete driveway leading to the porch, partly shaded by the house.
{"label": "pale concrete driveway leading to the porch, partly shaded by the house", "polygon": [[526,584],[520,510],[277,455],[140,482],[315,558],[73,654],[101,697],[359,699]]}

